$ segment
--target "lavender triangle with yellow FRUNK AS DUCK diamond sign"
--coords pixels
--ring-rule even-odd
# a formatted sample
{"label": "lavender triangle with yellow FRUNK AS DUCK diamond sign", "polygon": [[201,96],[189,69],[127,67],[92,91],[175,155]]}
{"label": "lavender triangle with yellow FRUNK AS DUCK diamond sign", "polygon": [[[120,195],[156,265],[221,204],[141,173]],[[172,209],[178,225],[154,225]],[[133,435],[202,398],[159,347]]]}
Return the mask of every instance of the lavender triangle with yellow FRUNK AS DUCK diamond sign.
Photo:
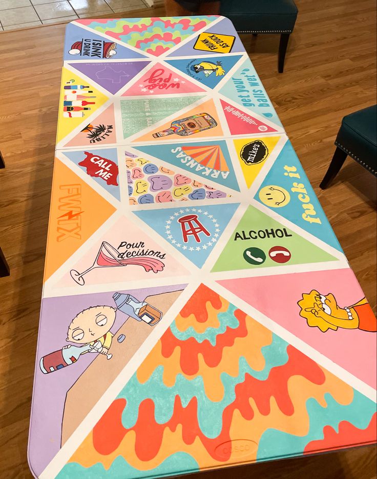
{"label": "lavender triangle with yellow FRUNK AS DUCK diamond sign", "polygon": [[244,53],[242,45],[233,23],[228,18],[223,18],[216,25],[208,26],[204,32],[193,35],[193,38],[174,50],[168,56],[214,55],[226,53]]}

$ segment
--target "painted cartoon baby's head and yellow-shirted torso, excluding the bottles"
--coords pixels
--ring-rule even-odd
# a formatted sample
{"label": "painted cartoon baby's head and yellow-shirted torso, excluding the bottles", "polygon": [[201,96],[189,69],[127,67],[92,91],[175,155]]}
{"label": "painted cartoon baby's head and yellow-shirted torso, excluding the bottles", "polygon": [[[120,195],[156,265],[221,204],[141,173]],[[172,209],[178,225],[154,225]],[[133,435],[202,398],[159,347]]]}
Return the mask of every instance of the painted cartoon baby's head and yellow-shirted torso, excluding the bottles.
{"label": "painted cartoon baby's head and yellow-shirted torso, excluding the bottles", "polygon": [[[110,329],[114,325],[115,315],[116,308],[112,306],[91,306],[84,309],[71,321],[66,341],[90,345],[89,352],[99,352],[111,359],[112,354],[108,354],[113,339]],[[63,349],[70,347],[67,345]]]}

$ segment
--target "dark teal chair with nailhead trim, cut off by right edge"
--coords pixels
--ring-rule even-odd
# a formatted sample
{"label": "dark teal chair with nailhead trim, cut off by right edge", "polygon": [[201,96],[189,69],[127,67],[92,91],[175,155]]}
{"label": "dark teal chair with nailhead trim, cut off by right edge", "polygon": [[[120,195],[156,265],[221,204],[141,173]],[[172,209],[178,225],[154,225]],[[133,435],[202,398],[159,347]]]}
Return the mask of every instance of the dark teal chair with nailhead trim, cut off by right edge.
{"label": "dark teal chair with nailhead trim, cut off by right edge", "polygon": [[320,184],[322,189],[336,177],[347,156],[377,176],[377,105],[344,116],[335,145],[337,149]]}

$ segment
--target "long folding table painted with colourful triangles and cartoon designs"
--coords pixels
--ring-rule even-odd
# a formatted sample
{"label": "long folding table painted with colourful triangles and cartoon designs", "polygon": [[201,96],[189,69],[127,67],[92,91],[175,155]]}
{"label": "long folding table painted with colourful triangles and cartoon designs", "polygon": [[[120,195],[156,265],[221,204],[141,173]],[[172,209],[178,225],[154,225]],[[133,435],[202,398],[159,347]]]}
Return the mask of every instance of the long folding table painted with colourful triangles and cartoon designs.
{"label": "long folding table painted with colourful triangles and cartoon designs", "polygon": [[375,317],[231,22],[83,19],[64,58],[34,475],[374,443]]}

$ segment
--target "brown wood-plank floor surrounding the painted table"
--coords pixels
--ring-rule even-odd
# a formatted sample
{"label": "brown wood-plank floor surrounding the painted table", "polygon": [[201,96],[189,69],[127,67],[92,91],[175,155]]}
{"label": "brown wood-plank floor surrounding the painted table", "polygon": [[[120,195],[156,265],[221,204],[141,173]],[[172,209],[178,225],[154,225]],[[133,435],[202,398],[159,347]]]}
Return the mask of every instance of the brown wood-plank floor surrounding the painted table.
{"label": "brown wood-plank floor surrounding the painted table", "polygon": [[[328,190],[318,188],[341,118],[376,103],[375,2],[296,2],[299,17],[284,74],[277,73],[277,35],[244,35],[242,41],[375,311],[375,178],[348,159]],[[7,164],[0,170],[0,245],[12,271],[0,278],[4,479],[31,476],[26,450],[64,30],[48,25],[0,33],[0,149]],[[366,447],[195,477],[369,479],[375,470],[375,450]]]}

